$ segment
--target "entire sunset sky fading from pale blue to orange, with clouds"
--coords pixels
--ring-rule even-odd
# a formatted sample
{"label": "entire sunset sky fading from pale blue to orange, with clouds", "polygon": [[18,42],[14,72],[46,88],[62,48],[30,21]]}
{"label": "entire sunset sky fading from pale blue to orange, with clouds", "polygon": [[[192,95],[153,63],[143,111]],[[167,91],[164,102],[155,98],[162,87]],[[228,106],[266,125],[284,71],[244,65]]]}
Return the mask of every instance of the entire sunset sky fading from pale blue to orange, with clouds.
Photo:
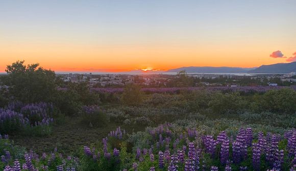
{"label": "entire sunset sky fading from pale blue to orange, with clouds", "polygon": [[0,0],[0,72],[17,60],[56,71],[296,61],[296,1]]}

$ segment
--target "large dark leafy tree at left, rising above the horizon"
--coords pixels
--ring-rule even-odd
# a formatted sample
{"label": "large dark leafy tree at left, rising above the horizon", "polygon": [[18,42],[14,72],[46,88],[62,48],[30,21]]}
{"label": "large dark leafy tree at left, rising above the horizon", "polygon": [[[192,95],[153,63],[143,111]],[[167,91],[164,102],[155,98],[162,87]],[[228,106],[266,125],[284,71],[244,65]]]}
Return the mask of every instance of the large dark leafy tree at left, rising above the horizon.
{"label": "large dark leafy tree at left, rising above the horizon", "polygon": [[57,91],[55,72],[39,66],[38,63],[24,65],[16,61],[7,65],[7,76],[3,83],[9,87],[9,93],[15,100],[24,103],[50,102]]}

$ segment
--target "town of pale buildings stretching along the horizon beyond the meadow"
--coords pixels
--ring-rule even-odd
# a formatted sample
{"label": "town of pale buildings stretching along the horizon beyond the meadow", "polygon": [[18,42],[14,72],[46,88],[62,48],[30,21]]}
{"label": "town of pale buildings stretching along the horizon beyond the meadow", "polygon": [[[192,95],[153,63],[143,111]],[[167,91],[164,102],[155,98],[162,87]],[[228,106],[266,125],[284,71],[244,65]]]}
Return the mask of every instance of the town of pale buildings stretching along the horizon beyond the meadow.
{"label": "town of pale buildings stretching along the horizon beyond the meadow", "polygon": [[[179,74],[57,74],[64,82],[87,83],[90,87],[124,87],[136,84],[143,87],[174,87],[182,77]],[[290,86],[296,85],[296,72],[289,74],[186,74],[187,86]]]}

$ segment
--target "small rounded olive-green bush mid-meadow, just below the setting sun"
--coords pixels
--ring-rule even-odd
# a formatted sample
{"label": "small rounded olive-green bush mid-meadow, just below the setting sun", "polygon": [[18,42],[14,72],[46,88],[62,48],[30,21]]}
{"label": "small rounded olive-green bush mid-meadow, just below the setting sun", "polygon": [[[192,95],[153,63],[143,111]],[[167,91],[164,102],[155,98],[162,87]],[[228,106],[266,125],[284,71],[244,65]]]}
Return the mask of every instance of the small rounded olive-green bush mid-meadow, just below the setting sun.
{"label": "small rounded olive-green bush mid-meadow, just below the setting sun", "polygon": [[125,105],[138,106],[143,101],[141,87],[134,84],[127,85],[122,93],[121,100]]}

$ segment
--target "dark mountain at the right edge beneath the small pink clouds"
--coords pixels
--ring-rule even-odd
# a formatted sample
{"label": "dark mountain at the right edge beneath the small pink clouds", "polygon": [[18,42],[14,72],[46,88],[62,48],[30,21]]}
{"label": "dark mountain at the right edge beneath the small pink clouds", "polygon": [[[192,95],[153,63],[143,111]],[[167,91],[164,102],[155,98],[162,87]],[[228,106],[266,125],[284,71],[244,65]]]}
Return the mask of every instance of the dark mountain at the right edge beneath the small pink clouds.
{"label": "dark mountain at the right edge beneath the small pink clouds", "polygon": [[296,62],[261,65],[256,69],[252,69],[248,71],[248,73],[289,73],[289,72],[296,72]]}

